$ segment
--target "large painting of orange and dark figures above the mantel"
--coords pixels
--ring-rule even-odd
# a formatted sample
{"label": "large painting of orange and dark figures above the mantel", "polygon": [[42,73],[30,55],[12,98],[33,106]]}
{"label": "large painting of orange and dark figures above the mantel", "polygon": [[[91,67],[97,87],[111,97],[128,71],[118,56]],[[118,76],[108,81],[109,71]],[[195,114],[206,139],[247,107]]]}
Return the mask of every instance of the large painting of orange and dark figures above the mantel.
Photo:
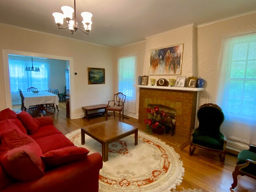
{"label": "large painting of orange and dark figures above the mantel", "polygon": [[150,50],[149,75],[180,75],[183,45]]}

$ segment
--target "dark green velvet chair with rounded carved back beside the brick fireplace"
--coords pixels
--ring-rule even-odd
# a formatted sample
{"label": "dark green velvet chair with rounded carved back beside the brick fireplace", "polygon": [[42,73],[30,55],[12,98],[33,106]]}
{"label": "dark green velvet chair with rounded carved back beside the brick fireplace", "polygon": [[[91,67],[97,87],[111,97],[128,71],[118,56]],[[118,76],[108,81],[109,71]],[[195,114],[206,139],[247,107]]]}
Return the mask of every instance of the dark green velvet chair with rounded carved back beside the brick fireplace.
{"label": "dark green velvet chair with rounded carved back beside the brick fireplace", "polygon": [[220,160],[224,164],[227,139],[220,132],[220,126],[224,121],[222,109],[216,104],[203,104],[198,109],[197,117],[199,126],[191,133],[190,155],[196,148],[209,150],[220,154]]}

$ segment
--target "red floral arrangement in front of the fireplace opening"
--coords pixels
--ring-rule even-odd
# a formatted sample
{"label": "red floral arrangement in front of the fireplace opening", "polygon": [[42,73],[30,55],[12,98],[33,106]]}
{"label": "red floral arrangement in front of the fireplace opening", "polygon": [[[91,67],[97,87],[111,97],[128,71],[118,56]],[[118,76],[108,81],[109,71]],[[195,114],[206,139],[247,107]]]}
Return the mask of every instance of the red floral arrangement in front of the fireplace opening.
{"label": "red floral arrangement in front of the fireplace opening", "polygon": [[156,133],[168,133],[170,127],[164,124],[164,118],[167,118],[166,112],[163,110],[160,112],[158,107],[148,108],[148,118],[144,120],[147,129],[151,129]]}

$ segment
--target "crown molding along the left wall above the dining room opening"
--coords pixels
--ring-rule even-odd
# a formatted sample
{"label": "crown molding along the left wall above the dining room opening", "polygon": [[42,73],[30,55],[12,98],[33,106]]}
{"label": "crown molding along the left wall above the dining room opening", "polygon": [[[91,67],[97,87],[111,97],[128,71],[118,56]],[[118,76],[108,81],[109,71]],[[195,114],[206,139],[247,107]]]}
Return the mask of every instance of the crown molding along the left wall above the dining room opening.
{"label": "crown molding along the left wall above the dining room opening", "polygon": [[12,28],[17,28],[17,29],[22,29],[22,30],[26,30],[26,31],[30,31],[30,32],[36,32],[36,33],[40,33],[40,34],[45,34],[45,35],[65,38],[65,39],[69,39],[69,40],[73,40],[73,41],[88,43],[88,44],[92,44],[92,45],[96,45],[96,46],[101,46],[101,47],[105,47],[105,48],[114,49],[112,47],[108,47],[108,46],[104,46],[104,45],[100,45],[100,44],[96,44],[96,43],[91,43],[91,42],[87,42],[87,41],[83,41],[83,40],[78,40],[78,39],[69,38],[69,37],[65,37],[65,36],[61,36],[61,35],[56,35],[56,34],[52,34],[52,33],[47,33],[47,32],[42,32],[42,31],[38,31],[38,30],[28,29],[28,28],[24,28],[24,27],[15,26],[15,25],[10,25],[10,24],[5,24],[5,23],[0,23],[0,25],[7,26],[7,27],[12,27]]}

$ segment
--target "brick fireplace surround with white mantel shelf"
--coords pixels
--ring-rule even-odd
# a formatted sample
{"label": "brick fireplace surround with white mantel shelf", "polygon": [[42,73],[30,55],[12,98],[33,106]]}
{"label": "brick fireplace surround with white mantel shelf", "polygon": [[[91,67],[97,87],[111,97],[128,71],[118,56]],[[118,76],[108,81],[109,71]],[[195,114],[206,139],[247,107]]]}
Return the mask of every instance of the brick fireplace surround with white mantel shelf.
{"label": "brick fireplace surround with white mantel shelf", "polygon": [[[140,87],[139,100],[139,122],[144,122],[147,118],[148,104],[160,104],[174,108],[176,110],[176,130],[175,135],[189,139],[190,132],[194,129],[196,117],[196,102],[198,88],[175,88],[150,86]],[[150,87],[150,88],[149,88]]]}

